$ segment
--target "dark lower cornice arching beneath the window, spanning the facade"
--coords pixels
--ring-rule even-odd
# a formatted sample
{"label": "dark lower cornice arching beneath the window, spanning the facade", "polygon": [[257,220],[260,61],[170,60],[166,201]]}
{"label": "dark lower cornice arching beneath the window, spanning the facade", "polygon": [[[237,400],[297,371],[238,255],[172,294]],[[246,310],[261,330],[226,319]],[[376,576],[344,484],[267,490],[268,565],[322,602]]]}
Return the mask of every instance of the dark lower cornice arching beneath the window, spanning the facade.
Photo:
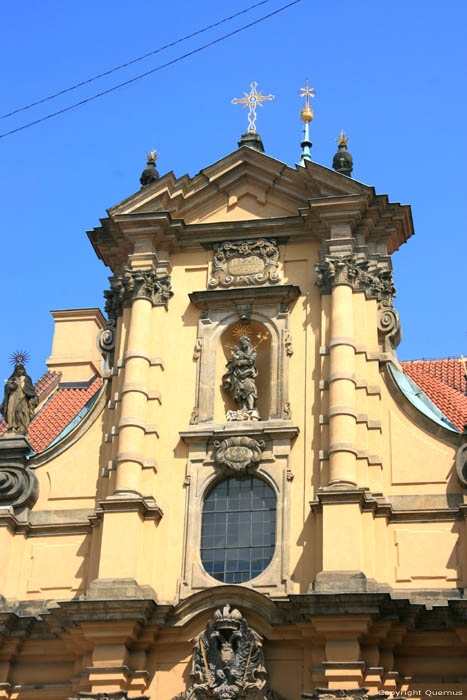
{"label": "dark lower cornice arching beneath the window, spanning the facade", "polygon": [[[289,594],[280,599],[271,599],[242,586],[215,586],[200,591],[177,605],[157,602],[154,595],[139,588],[137,596],[122,596],[125,582],[129,591],[135,582],[115,581],[99,598],[87,597],[72,600],[5,600],[0,596],[0,635],[3,639],[57,639],[74,630],[74,635],[93,636],[106,634],[109,639],[129,635],[140,635],[143,630],[184,629],[200,615],[216,607],[230,603],[246,614],[254,612],[258,621],[271,630],[279,626],[281,633],[290,628],[288,634],[302,638],[305,626],[314,633],[321,633],[336,620],[346,616],[349,624],[358,623],[362,616],[366,624],[390,621],[393,625],[404,625],[413,631],[456,630],[467,625],[467,598],[459,591],[427,591],[426,604],[421,598],[424,591],[391,590],[386,592],[309,592]],[[112,582],[109,582],[112,584]],[[97,592],[97,591],[96,591]],[[409,594],[418,594],[420,602],[409,600]],[[451,595],[451,597],[449,597]],[[438,605],[432,608],[433,600]],[[442,604],[441,604],[442,603]],[[323,628],[324,624],[324,628]],[[190,628],[191,629],[191,628]],[[370,630],[371,632],[371,630]]]}

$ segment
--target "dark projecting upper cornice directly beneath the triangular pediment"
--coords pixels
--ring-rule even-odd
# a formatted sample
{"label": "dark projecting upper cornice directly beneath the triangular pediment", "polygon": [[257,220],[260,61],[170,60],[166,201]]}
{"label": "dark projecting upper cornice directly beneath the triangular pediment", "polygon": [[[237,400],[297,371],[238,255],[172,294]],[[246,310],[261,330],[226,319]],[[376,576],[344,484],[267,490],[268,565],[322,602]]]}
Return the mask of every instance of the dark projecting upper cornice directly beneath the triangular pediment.
{"label": "dark projecting upper cornice directly beneath the triangular pediment", "polygon": [[187,224],[173,210],[114,209],[109,210],[109,218],[101,220],[100,227],[88,231],[88,236],[98,257],[115,270],[125,263],[138,238],[150,237],[156,248],[170,251],[265,236],[322,242],[333,224],[343,222],[351,226],[352,235],[363,235],[365,244],[370,240],[383,243],[390,254],[413,234],[410,207],[390,203],[387,195],[376,195],[373,188],[304,199],[307,204],[297,207],[297,216],[200,224]]}

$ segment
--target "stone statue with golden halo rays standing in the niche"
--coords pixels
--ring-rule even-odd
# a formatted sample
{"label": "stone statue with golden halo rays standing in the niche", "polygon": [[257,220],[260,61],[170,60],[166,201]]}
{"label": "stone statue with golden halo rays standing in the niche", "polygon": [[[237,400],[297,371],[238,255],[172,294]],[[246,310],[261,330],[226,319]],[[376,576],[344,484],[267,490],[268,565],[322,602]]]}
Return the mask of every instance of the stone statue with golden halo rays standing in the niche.
{"label": "stone statue with golden halo rays standing in the niche", "polygon": [[258,390],[255,378],[256,350],[251,340],[242,335],[239,345],[232,348],[232,357],[226,365],[227,372],[222,377],[222,386],[228,391],[238,406],[237,411],[228,411],[227,420],[259,420],[256,408]]}

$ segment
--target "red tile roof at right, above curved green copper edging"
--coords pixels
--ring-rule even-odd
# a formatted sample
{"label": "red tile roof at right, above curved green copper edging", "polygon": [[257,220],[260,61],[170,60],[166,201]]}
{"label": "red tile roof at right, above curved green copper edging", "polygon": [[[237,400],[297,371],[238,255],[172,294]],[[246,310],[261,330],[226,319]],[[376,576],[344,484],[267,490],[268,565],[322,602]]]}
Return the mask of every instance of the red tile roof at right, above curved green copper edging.
{"label": "red tile roof at right, above curved green copper edging", "polygon": [[456,358],[444,360],[408,360],[402,369],[462,432],[467,423],[467,396],[462,363]]}

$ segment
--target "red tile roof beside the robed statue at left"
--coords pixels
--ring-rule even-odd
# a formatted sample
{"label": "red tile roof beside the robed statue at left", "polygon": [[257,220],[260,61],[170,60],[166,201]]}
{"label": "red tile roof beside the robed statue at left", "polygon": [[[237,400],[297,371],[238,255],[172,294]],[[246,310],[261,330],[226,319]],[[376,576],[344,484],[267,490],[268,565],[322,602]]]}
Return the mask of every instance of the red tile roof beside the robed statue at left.
{"label": "red tile roof beside the robed statue at left", "polygon": [[[39,396],[47,394],[53,383],[58,384],[60,372],[47,371],[35,382]],[[58,384],[54,393],[37,409],[29,426],[29,442],[35,452],[45,450],[82,408],[92,399],[102,386],[101,377],[94,377],[87,384]],[[6,430],[6,423],[0,420],[0,435]]]}

